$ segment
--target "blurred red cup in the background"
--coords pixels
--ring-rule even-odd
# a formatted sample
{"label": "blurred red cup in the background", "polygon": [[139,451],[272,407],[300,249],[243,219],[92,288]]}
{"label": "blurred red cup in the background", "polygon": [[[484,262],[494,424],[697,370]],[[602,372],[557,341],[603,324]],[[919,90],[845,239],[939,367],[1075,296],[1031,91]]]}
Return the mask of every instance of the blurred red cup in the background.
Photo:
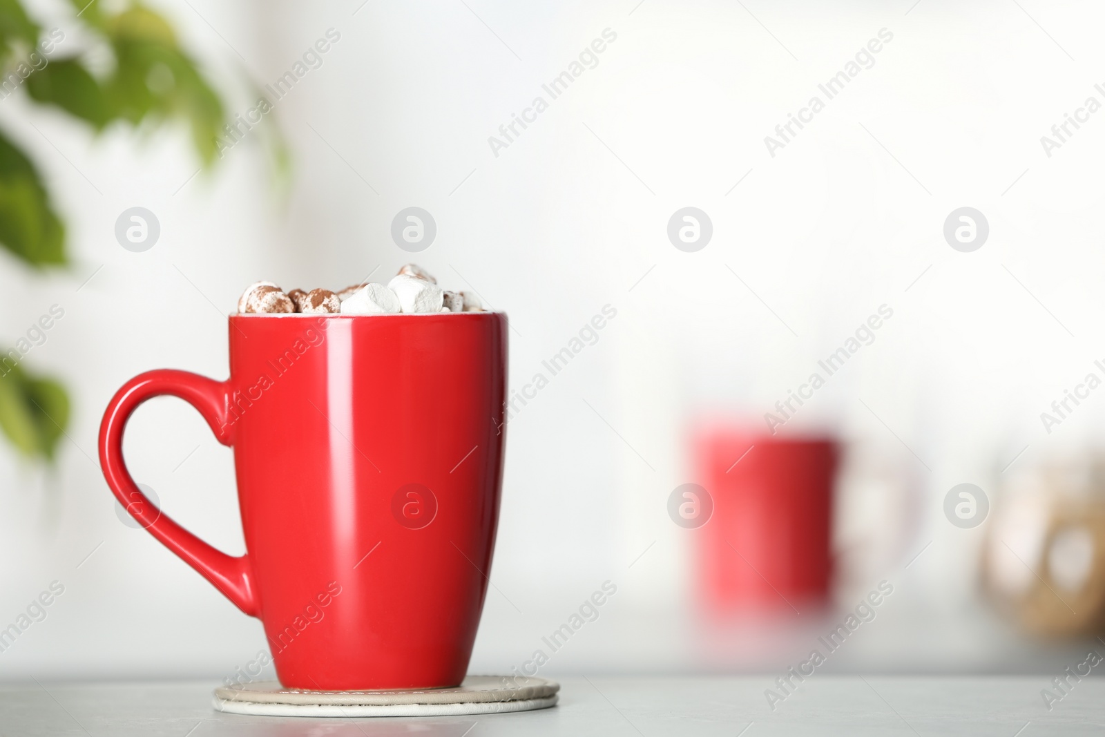
{"label": "blurred red cup in the background", "polygon": [[696,535],[705,611],[827,603],[836,441],[709,428],[694,445],[696,475],[713,505]]}

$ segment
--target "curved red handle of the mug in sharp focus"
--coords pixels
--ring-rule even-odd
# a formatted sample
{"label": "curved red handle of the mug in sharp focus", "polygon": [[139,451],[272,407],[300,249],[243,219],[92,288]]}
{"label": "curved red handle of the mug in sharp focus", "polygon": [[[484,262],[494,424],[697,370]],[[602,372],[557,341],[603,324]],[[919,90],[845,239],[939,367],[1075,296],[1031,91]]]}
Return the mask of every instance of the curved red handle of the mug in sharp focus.
{"label": "curved red handle of the mug in sharp focus", "polygon": [[147,399],[162,394],[178,397],[194,407],[207,420],[215,439],[223,445],[230,445],[232,438],[227,424],[230,393],[229,381],[214,381],[189,371],[159,369],[139,373],[115,392],[104,412],[99,425],[99,461],[107,485],[131,517],[211,581],[239,609],[257,617],[260,602],[249,554],[240,558],[228,556],[161,514],[135,484],[123,460],[123,431],[130,414]]}

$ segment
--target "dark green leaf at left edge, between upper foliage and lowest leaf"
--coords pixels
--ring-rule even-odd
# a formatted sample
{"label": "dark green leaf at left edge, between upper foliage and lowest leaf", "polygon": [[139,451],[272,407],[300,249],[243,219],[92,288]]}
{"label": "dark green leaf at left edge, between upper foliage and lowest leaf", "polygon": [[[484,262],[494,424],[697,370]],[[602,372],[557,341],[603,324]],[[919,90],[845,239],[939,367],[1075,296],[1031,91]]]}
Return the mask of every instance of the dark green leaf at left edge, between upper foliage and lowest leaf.
{"label": "dark green leaf at left edge, between upper foliage and lowest leaf", "polygon": [[34,165],[0,134],[0,245],[32,266],[63,264],[64,236]]}

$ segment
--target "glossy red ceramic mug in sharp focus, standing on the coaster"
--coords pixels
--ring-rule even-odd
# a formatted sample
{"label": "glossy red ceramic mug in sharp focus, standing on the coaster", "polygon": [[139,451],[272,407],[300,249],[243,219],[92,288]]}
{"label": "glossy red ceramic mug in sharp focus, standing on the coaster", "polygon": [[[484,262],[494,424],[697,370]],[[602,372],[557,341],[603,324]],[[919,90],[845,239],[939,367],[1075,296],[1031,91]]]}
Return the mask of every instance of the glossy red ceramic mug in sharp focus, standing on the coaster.
{"label": "glossy red ceramic mug in sharp focus, standing on the coaster", "polygon": [[[116,498],[246,614],[286,687],[431,688],[464,678],[503,475],[506,316],[234,315],[230,378],[128,381],[99,431]],[[123,460],[160,394],[234,451],[246,552],[161,514]]]}

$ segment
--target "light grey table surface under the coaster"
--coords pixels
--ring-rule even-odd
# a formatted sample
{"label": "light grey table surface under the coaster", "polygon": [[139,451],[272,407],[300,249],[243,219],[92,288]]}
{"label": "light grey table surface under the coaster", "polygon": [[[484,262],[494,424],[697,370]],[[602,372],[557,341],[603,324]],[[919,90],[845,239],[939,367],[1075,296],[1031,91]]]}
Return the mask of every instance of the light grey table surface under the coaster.
{"label": "light grey table surface under the coaster", "polygon": [[474,717],[315,719],[221,714],[213,682],[0,686],[0,735],[358,737],[421,735],[1101,735],[1105,678],[1049,710],[1048,676],[807,678],[772,712],[775,675],[566,677],[558,706]]}

